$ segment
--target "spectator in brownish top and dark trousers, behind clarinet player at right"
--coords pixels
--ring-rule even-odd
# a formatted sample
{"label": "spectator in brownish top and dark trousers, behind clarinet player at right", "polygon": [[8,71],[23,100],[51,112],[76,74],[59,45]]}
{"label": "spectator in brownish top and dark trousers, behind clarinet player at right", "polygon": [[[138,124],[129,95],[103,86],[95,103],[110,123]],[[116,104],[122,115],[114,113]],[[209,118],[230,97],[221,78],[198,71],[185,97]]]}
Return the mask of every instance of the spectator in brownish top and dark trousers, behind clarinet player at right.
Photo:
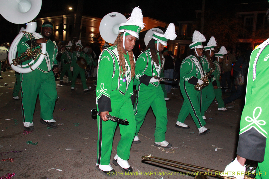
{"label": "spectator in brownish top and dark trousers, behind clarinet player at right", "polygon": [[[230,53],[231,52],[231,48],[228,47],[227,48],[227,54],[224,55],[224,59],[223,62],[220,64],[221,66],[221,86],[222,87],[226,87],[226,81],[229,87],[229,90],[231,90],[231,70],[233,67],[233,63],[236,62],[236,58],[233,54]],[[225,89],[222,90],[222,92],[225,92]]]}

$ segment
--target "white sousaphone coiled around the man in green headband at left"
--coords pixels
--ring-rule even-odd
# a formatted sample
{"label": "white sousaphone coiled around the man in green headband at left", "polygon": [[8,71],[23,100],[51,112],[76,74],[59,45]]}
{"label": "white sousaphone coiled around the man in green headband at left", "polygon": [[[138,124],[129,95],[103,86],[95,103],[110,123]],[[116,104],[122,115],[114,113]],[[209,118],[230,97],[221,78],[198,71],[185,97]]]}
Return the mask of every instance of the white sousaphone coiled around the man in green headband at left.
{"label": "white sousaphone coiled around the man in green headband at left", "polygon": [[[27,23],[24,31],[18,34],[13,40],[8,53],[8,61],[13,70],[19,73],[29,73],[35,70],[42,63],[46,54],[46,43],[40,45],[40,50],[37,49],[32,53],[29,49],[24,56],[16,59],[17,46],[22,36],[25,33],[31,33],[35,38],[42,38],[39,33],[36,33],[36,22],[32,21],[39,13],[42,5],[42,0],[0,0],[0,13],[7,20],[14,24]],[[40,52],[41,51],[41,52]],[[23,55],[23,54],[22,54]],[[39,58],[38,58],[39,56]],[[38,59],[37,59],[38,58]],[[22,61],[30,61],[28,64],[22,65]],[[28,68],[24,68],[28,67]]]}

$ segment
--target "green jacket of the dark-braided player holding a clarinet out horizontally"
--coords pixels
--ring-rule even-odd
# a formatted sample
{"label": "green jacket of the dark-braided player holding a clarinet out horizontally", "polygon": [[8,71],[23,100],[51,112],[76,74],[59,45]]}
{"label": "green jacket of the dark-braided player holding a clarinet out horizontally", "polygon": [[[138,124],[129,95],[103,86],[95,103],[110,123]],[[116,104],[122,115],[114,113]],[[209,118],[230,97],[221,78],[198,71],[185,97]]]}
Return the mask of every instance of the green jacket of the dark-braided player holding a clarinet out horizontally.
{"label": "green jacket of the dark-braided player holding a clarinet out horizontally", "polygon": [[[142,52],[137,58],[137,65],[135,66],[135,79],[146,86],[149,85],[150,78],[154,77],[155,75],[160,77],[161,60],[159,54],[157,55],[159,60],[157,65],[154,64],[153,60],[151,60],[150,49]],[[158,87],[159,84],[159,82],[150,83],[150,85],[155,87]]]}

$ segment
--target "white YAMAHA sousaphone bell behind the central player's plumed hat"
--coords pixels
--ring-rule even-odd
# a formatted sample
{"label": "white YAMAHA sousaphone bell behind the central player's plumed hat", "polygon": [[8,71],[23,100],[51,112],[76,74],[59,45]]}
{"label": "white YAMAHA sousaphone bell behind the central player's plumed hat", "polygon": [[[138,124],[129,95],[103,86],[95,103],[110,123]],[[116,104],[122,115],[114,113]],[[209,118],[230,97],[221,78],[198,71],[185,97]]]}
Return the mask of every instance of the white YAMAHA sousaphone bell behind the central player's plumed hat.
{"label": "white YAMAHA sousaphone bell behind the central player's plumed hat", "polygon": [[119,25],[125,22],[127,22],[127,19],[121,13],[107,14],[100,22],[101,37],[108,43],[113,44],[119,34]]}

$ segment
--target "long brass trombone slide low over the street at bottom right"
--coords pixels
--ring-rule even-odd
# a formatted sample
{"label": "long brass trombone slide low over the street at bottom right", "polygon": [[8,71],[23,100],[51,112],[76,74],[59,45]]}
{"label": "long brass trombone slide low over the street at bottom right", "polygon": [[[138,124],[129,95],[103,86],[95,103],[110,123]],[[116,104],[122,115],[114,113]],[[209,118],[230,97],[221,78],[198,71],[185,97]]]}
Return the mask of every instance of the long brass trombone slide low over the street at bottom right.
{"label": "long brass trombone slide low over the street at bottom right", "polygon": [[[223,179],[235,179],[235,178],[232,178],[232,177],[217,175],[215,173],[214,173],[215,175],[212,174],[212,172],[219,172],[219,173],[222,172],[222,171],[219,171],[219,170],[213,170],[213,169],[208,169],[208,168],[195,166],[195,165],[191,165],[191,164],[187,164],[187,163],[172,161],[172,160],[168,160],[168,159],[164,159],[164,158],[153,157],[152,155],[142,156],[142,159],[146,160],[146,161],[152,161],[152,162],[155,162],[155,163],[160,163],[160,164],[163,164],[163,165],[172,166],[172,167],[175,167],[175,168],[184,169],[184,170],[188,170],[190,172],[196,172],[196,173],[201,173],[202,175],[205,175],[205,172],[203,172],[203,171],[190,169],[190,168],[187,168],[187,167],[184,167],[184,166],[178,166],[178,165],[174,165],[174,164],[171,164],[171,163],[156,161],[156,160],[153,160],[153,158],[161,160],[161,161],[167,161],[167,162],[176,163],[176,164],[180,164],[180,165],[184,165],[184,166],[190,166],[190,167],[197,168],[197,169],[207,170],[207,171],[211,172],[210,176],[213,176],[213,177],[218,177],[218,178],[223,178]],[[250,177],[245,175],[244,179],[254,179],[254,178],[250,178]]]}

